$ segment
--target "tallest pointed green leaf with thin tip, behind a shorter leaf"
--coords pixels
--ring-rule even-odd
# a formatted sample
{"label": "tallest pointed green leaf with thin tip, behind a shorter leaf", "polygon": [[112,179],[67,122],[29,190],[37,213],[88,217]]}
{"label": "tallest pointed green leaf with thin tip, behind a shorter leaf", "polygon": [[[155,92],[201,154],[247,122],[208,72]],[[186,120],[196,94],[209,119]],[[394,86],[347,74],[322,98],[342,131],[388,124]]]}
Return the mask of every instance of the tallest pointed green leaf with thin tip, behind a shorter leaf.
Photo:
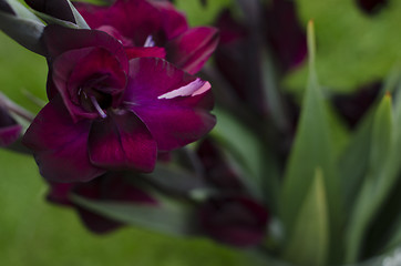
{"label": "tallest pointed green leaf with thin tip, behind a shorter leaf", "polygon": [[[309,23],[309,83],[305,94],[296,139],[286,166],[281,191],[280,214],[287,234],[291,235],[296,217],[308,190],[313,182],[315,171],[321,167],[330,218],[332,253],[340,248],[339,239],[342,223],[342,198],[340,180],[335,168],[335,153],[331,146],[329,116],[315,72],[315,38],[312,22]],[[338,257],[338,255],[332,255]]]}

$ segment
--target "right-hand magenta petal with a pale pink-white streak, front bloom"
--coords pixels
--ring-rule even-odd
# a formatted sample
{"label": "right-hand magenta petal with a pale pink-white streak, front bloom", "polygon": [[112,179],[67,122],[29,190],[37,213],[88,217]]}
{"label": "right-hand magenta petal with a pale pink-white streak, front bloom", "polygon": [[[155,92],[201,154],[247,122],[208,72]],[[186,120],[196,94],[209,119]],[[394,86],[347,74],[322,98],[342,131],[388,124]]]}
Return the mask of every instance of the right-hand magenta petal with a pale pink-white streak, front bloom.
{"label": "right-hand magenta petal with a pale pink-white streak, front bloom", "polygon": [[157,142],[169,151],[194,142],[215,125],[210,84],[154,58],[130,61],[123,104],[136,113]]}

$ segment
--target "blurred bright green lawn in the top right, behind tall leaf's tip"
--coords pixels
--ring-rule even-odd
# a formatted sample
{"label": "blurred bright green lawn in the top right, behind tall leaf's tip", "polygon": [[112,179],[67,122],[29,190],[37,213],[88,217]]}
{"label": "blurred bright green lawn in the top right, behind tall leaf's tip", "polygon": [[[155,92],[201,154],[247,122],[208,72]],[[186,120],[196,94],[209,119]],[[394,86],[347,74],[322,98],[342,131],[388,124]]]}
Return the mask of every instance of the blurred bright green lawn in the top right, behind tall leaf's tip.
{"label": "blurred bright green lawn in the top right, behind tall leaf's tip", "polygon": [[[384,79],[401,59],[401,2],[391,1],[379,14],[369,17],[349,0],[296,0],[300,21],[317,24],[318,74],[321,84],[337,92]],[[308,68],[295,71],[285,84],[299,92]]]}

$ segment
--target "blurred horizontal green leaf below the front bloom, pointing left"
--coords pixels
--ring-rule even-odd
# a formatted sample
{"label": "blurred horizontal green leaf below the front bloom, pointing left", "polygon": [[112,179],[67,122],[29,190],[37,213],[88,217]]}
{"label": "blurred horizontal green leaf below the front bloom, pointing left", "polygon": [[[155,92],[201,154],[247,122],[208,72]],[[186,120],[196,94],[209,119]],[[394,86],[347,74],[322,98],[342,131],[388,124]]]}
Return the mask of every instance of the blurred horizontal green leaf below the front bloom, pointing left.
{"label": "blurred horizontal green leaf below the front bloom, pointing left", "polygon": [[78,195],[71,200],[80,206],[124,224],[173,235],[191,235],[195,231],[193,213],[183,206],[162,203],[156,206],[92,201]]}

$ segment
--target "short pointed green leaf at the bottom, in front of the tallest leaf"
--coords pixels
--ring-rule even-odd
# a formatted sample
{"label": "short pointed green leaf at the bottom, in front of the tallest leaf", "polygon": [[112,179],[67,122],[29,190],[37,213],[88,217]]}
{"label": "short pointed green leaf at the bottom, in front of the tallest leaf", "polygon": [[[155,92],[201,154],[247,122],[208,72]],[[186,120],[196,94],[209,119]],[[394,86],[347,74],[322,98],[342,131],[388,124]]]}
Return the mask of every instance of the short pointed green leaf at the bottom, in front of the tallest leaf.
{"label": "short pointed green leaf at the bottom, in front of the tallest leaf", "polygon": [[323,180],[323,173],[317,168],[284,253],[287,260],[297,265],[326,265],[330,233]]}

